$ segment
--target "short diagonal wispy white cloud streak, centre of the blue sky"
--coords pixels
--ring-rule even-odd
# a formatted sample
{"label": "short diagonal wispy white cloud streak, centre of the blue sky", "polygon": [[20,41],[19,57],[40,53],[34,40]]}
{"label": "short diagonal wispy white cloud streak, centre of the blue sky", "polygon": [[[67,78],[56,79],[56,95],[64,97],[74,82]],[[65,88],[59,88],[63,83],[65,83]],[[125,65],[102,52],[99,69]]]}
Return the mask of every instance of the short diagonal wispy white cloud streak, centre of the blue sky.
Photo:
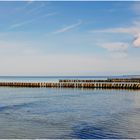
{"label": "short diagonal wispy white cloud streak, centre of the blue sky", "polygon": [[72,25],[66,26],[66,27],[64,27],[64,28],[61,28],[61,29],[59,29],[59,30],[53,32],[53,33],[54,33],[54,34],[59,34],[59,33],[67,32],[67,31],[69,31],[69,30],[71,30],[71,29],[73,29],[73,28],[78,27],[79,25],[81,25],[81,23],[82,23],[82,22],[79,21],[79,22],[76,23],[76,24],[72,24]]}

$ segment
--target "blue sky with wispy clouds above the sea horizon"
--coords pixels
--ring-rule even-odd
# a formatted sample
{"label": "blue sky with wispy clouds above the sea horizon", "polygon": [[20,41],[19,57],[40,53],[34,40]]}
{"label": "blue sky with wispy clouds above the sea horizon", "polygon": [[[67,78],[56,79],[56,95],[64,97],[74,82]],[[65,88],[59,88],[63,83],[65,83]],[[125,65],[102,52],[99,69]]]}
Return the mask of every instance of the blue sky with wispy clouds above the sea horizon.
{"label": "blue sky with wispy clouds above the sea horizon", "polygon": [[140,74],[140,2],[0,1],[1,76]]}

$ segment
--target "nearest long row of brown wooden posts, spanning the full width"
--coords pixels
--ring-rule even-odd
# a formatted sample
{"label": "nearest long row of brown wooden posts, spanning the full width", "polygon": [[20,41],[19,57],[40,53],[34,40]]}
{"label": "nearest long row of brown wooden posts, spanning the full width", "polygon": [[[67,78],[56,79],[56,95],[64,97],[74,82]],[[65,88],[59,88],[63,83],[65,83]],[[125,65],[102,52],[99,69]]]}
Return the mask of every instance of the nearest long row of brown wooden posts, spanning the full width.
{"label": "nearest long row of brown wooden posts, spanning the full width", "polygon": [[108,88],[108,89],[140,89],[140,83],[79,83],[79,82],[0,82],[6,87],[55,87],[55,88]]}

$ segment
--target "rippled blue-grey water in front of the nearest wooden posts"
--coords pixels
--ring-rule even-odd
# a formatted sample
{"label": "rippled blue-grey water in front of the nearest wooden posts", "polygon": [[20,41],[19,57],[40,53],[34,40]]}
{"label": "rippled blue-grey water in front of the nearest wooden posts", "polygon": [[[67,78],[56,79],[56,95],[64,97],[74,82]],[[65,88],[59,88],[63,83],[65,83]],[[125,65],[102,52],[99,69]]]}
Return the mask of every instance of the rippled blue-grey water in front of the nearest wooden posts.
{"label": "rippled blue-grey water in front of the nearest wooden posts", "polygon": [[0,138],[140,138],[140,91],[0,88]]}

